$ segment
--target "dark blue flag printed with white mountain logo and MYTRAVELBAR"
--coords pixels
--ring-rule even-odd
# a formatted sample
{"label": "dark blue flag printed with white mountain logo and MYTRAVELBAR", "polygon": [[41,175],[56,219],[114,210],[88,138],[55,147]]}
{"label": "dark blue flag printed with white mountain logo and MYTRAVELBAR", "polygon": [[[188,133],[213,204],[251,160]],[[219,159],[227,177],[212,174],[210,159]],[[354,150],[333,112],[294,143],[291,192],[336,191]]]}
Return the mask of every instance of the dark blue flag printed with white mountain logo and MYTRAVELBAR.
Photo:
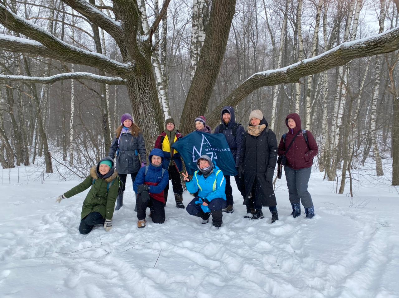
{"label": "dark blue flag printed with white mountain logo and MYTRAVELBAR", "polygon": [[190,175],[198,170],[197,160],[203,154],[209,155],[225,176],[238,174],[229,144],[227,144],[223,133],[212,134],[194,131],[179,139],[172,145],[172,148],[182,155],[186,170]]}

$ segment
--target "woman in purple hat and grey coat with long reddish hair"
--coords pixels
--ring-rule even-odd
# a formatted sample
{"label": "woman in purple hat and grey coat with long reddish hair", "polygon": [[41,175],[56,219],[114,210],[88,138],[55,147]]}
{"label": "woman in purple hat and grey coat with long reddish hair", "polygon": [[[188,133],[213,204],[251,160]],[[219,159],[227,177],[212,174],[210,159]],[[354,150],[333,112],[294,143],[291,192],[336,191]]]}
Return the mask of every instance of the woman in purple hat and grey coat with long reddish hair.
{"label": "woman in purple hat and grey coat with long reddish hair", "polygon": [[109,156],[112,159],[114,159],[115,153],[117,155],[117,171],[120,181],[123,183],[123,186],[119,188],[115,210],[119,210],[123,205],[127,174],[130,174],[132,182],[134,182],[138,170],[147,165],[144,137],[140,128],[133,123],[132,116],[127,113],[122,115],[120,122],[121,125],[116,130],[115,140],[109,149]]}

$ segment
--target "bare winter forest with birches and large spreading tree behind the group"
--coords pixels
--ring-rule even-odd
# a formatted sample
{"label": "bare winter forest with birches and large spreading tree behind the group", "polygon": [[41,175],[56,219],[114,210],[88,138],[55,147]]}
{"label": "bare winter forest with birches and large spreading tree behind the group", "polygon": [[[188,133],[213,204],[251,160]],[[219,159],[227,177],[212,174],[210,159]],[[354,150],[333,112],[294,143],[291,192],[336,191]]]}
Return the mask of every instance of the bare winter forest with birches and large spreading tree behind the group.
{"label": "bare winter forest with birches and large spreading tree behind the group", "polygon": [[[0,1],[0,163],[85,176],[131,113],[147,152],[173,117],[302,118],[343,194],[392,159],[399,185],[399,8],[375,0]],[[350,183],[350,187],[352,183]]]}

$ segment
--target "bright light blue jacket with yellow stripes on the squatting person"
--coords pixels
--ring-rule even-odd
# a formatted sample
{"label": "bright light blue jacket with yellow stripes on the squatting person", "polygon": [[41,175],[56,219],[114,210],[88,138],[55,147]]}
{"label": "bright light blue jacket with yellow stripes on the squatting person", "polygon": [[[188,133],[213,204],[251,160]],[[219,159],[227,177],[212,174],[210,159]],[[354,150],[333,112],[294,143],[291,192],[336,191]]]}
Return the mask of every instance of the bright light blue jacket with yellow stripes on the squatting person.
{"label": "bright light blue jacket with yellow stripes on the squatting person", "polygon": [[214,167],[213,172],[206,178],[200,171],[195,171],[193,179],[186,182],[187,190],[192,194],[199,190],[198,196],[209,202],[215,198],[226,200],[226,180],[223,172],[217,166]]}

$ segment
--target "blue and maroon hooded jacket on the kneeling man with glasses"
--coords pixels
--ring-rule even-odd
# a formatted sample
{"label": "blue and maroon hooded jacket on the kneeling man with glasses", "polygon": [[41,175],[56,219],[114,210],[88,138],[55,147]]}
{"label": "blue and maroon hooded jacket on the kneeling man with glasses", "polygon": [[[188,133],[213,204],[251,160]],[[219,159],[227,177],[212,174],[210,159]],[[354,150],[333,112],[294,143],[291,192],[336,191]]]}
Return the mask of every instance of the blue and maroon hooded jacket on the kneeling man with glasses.
{"label": "blue and maroon hooded jacket on the kneeling man with glasses", "polygon": [[136,179],[134,179],[133,190],[137,193],[137,187],[141,184],[146,184],[150,187],[150,190],[148,191],[150,193],[150,197],[164,203],[164,189],[169,183],[169,174],[168,171],[164,170],[164,175],[162,176],[162,166],[154,167],[152,165],[152,155],[158,155],[162,157],[162,161],[164,160],[164,154],[162,153],[161,149],[152,149],[150,156],[148,156],[150,163],[148,164],[147,174],[144,175],[146,167],[142,167],[140,171],[138,171]]}

